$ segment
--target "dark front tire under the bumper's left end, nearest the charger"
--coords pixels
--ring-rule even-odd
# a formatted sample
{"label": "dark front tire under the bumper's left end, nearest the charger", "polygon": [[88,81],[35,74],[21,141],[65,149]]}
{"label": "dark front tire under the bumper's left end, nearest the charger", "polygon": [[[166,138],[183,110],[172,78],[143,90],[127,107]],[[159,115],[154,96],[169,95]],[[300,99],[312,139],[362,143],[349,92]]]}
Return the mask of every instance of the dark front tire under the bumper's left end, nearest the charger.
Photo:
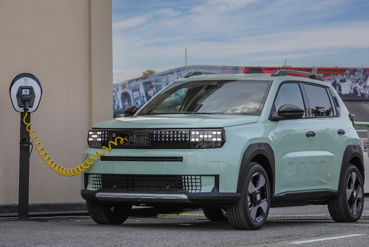
{"label": "dark front tire under the bumper's left end, nearest the charger", "polygon": [[94,222],[101,225],[120,225],[128,218],[128,211],[132,208],[132,205],[125,204],[86,202],[91,218]]}

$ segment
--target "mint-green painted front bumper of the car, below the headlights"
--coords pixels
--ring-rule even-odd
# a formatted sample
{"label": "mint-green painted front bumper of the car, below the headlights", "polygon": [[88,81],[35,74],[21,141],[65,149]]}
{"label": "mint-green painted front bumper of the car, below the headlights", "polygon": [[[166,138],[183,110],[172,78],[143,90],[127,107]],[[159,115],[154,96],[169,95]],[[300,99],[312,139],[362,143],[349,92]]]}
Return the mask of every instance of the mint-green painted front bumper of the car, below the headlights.
{"label": "mint-green painted front bumper of the car, below the headlights", "polygon": [[[90,155],[96,156],[96,149],[86,147],[83,158],[89,159]],[[210,192],[215,185],[221,193],[234,193],[237,188],[239,163],[241,150],[226,142],[222,148],[212,149],[112,149],[106,150],[104,156],[92,164],[89,169],[82,174],[82,190],[97,189],[104,191],[114,191],[110,188],[91,188],[85,174],[99,174],[107,176],[182,176],[183,179],[193,179],[194,176],[201,176],[201,181],[206,178],[206,184],[201,183],[201,193]],[[209,183],[211,176],[215,177],[215,183]],[[124,179],[116,179],[124,181]],[[146,180],[149,181],[149,180]],[[87,183],[87,184],[86,184]],[[119,184],[111,184],[111,186]],[[170,185],[169,185],[170,186]],[[210,187],[209,187],[210,186]],[[204,187],[208,187],[206,190]],[[115,188],[115,187],[114,187]],[[198,189],[198,188],[197,188]],[[197,190],[196,189],[196,190]],[[190,193],[194,188],[187,188]],[[137,190],[131,190],[137,191]],[[130,192],[131,192],[130,191]],[[149,192],[138,190],[139,192]],[[153,191],[151,191],[153,192]],[[154,191],[160,193],[161,191]],[[167,191],[166,191],[167,192]]]}

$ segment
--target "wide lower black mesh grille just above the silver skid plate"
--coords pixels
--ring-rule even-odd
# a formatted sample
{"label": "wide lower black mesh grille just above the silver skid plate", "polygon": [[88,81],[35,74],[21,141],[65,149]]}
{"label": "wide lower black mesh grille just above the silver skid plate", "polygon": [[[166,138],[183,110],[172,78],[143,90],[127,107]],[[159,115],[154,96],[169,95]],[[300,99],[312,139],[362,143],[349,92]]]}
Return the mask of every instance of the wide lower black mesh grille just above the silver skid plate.
{"label": "wide lower black mesh grille just above the silver skid plate", "polygon": [[86,174],[88,190],[136,192],[201,192],[201,176]]}

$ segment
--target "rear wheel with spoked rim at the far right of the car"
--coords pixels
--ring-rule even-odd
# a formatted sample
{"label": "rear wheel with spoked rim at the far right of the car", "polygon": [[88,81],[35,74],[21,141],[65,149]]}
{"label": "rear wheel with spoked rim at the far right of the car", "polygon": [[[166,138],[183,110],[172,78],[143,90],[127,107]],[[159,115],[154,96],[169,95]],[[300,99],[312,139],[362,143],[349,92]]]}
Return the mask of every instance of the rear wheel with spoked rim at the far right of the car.
{"label": "rear wheel with spoked rim at the far right of the car", "polygon": [[356,166],[349,164],[338,197],[328,201],[328,210],[335,222],[356,222],[364,207],[363,179]]}

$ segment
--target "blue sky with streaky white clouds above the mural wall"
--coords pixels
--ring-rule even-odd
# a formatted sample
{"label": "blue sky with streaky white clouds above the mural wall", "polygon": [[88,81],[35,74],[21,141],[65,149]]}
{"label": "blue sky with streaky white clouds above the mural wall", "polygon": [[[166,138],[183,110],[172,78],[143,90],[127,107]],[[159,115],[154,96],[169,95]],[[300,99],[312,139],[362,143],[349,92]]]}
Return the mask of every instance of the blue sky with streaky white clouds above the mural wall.
{"label": "blue sky with streaky white clouds above the mural wall", "polygon": [[113,82],[185,65],[369,67],[368,0],[113,0]]}

